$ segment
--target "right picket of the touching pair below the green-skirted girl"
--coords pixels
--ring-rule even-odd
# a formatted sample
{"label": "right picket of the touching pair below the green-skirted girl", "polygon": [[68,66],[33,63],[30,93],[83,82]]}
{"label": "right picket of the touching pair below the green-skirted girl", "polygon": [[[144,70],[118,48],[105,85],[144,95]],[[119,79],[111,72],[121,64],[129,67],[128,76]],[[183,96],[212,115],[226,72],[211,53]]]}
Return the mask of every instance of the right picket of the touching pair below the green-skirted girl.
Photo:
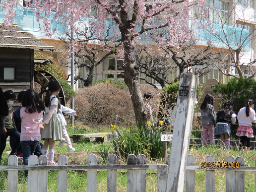
{"label": "right picket of the touching pair below the green-skirted girl", "polygon": [[[39,165],[48,165],[48,158],[45,155],[41,155],[38,158]],[[39,192],[47,192],[48,190],[48,171],[47,170],[39,170],[38,171],[38,191]]]}

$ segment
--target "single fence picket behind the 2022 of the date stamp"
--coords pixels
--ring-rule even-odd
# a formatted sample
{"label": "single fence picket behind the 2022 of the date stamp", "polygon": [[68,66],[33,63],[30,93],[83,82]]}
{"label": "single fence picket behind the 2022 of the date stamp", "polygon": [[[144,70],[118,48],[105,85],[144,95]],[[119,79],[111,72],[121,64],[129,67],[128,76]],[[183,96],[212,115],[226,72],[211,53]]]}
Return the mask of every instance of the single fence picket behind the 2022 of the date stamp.
{"label": "single fence picket behind the 2022 of the date stamp", "polygon": [[[205,162],[214,162],[214,157],[209,155],[205,158]],[[205,192],[215,192],[215,171],[205,170]]]}

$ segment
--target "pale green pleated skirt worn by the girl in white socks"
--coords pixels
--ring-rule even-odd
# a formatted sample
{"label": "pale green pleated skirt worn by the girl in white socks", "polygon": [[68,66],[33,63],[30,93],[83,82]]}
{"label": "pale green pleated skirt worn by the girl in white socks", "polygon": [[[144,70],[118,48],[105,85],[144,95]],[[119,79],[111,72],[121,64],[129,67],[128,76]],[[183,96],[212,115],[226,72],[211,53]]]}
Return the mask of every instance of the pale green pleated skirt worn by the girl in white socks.
{"label": "pale green pleated skirt worn by the girl in white socks", "polygon": [[[47,114],[44,115],[43,122]],[[51,138],[55,141],[62,140],[62,126],[58,114],[54,113],[49,123],[45,125],[44,129],[41,129],[42,140],[45,138]]]}

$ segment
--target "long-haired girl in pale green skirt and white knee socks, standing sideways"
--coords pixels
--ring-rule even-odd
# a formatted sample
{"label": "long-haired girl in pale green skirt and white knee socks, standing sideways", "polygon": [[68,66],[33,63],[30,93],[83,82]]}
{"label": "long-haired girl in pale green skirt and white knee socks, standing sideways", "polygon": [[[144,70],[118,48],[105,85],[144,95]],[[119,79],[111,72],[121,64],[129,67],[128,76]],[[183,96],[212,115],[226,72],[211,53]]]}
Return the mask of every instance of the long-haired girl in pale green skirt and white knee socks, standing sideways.
{"label": "long-haired girl in pale green skirt and white knee socks, standing sideways", "polygon": [[58,117],[58,111],[61,108],[59,92],[61,85],[57,80],[52,80],[48,84],[48,90],[45,96],[45,115],[43,123],[44,129],[41,130],[42,139],[45,140],[42,153],[48,154],[49,147],[49,165],[58,165],[54,162],[54,144],[56,140],[62,140],[62,127]]}

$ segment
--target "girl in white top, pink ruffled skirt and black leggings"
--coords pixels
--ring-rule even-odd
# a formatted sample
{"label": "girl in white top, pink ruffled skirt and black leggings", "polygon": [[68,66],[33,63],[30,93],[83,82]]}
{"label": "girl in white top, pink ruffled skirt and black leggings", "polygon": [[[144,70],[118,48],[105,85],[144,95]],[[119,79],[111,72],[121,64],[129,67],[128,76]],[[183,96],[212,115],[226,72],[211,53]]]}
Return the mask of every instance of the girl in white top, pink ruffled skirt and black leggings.
{"label": "girl in white top, pink ruffled skirt and black leggings", "polygon": [[239,110],[237,114],[237,120],[239,127],[237,128],[237,136],[240,136],[240,150],[250,150],[250,138],[254,137],[254,131],[252,129],[252,123],[256,123],[254,100],[248,99],[246,101],[246,107]]}

